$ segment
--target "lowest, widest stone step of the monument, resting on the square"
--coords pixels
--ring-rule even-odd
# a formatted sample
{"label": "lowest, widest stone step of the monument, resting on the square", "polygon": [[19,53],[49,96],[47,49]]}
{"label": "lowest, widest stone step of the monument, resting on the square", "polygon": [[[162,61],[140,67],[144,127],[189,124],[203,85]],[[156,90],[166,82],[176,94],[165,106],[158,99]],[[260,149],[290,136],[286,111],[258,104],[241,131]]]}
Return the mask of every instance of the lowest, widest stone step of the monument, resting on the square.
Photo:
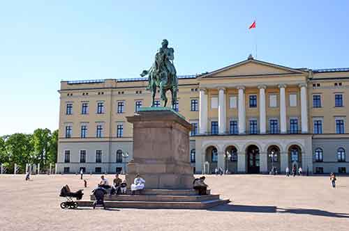
{"label": "lowest, widest stone step of the monument, resting on the square", "polygon": [[[105,207],[109,208],[133,208],[133,209],[208,209],[217,205],[223,205],[230,200],[205,200],[200,202],[158,202],[158,201],[105,201]],[[92,207],[94,201],[80,200],[79,207]]]}

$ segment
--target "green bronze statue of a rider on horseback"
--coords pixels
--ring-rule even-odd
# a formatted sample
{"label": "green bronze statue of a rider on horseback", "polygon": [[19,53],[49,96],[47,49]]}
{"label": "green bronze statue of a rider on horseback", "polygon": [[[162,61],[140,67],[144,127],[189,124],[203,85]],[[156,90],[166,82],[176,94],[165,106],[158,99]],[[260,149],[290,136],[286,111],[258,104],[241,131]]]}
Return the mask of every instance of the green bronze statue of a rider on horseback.
{"label": "green bronze statue of a rider on horseback", "polygon": [[155,95],[157,88],[160,89],[160,97],[163,102],[163,106],[168,103],[168,98],[166,93],[168,90],[171,91],[172,95],[172,109],[177,102],[177,88],[178,88],[178,78],[176,69],[173,65],[174,60],[174,49],[168,47],[168,40],[163,40],[161,42],[161,48],[155,54],[155,62],[149,68],[149,70],[144,70],[141,77],[148,74],[147,90],[151,91],[151,106],[155,106]]}

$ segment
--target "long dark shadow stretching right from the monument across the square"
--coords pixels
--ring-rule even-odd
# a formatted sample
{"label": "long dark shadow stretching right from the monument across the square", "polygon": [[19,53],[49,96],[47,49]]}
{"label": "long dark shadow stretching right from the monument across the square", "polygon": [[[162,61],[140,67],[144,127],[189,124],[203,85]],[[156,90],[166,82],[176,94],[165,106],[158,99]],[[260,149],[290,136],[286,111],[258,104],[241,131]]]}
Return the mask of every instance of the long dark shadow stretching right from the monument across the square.
{"label": "long dark shadow stretching right from the monument across the square", "polygon": [[260,212],[260,213],[281,213],[281,214],[306,214],[313,216],[329,216],[337,218],[349,218],[349,214],[328,212],[320,209],[283,209],[276,206],[260,206],[260,205],[219,205],[209,211],[221,212]]}

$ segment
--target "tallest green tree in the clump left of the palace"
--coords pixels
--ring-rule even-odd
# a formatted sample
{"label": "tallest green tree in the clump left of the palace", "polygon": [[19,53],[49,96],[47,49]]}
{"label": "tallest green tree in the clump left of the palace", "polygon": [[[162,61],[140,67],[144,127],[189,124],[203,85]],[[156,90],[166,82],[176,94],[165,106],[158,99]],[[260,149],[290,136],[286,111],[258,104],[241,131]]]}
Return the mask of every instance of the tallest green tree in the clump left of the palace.
{"label": "tallest green tree in the clump left of the palace", "polygon": [[34,148],[34,164],[40,163],[41,168],[47,166],[47,159],[49,159],[49,149],[51,141],[50,129],[36,129],[31,138],[31,143]]}

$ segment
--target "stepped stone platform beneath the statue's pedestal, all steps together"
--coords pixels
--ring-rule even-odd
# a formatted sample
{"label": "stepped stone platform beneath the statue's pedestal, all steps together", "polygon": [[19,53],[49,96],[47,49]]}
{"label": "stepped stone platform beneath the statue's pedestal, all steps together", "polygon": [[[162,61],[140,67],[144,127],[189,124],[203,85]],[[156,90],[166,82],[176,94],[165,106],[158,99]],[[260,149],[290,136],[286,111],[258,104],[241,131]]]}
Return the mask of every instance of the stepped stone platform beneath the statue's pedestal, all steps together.
{"label": "stepped stone platform beneath the statue's pedestal, all steps together", "polygon": [[[222,200],[219,195],[210,194],[199,196],[195,190],[163,190],[144,189],[136,195],[105,196],[105,206],[109,208],[134,208],[134,209],[209,209],[223,205],[230,200]],[[79,201],[80,207],[92,207],[94,196],[91,200]]]}

